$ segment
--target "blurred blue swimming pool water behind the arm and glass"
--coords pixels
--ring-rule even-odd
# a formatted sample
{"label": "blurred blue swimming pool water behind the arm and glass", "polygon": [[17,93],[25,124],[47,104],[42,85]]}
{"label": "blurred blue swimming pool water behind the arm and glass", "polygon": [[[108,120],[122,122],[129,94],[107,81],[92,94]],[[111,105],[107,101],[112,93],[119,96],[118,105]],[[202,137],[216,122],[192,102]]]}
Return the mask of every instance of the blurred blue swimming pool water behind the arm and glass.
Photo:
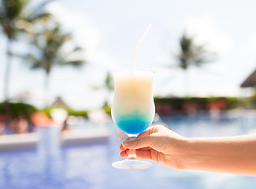
{"label": "blurred blue swimming pool water behind the arm and glass", "polygon": [[[255,114],[256,115],[256,114]],[[238,135],[256,128],[254,113],[162,117],[170,127],[186,136]],[[6,151],[0,154],[1,189],[115,189],[115,188],[254,188],[252,176],[214,172],[168,169],[153,163],[150,169],[113,169],[111,162],[120,160],[121,139],[117,129],[107,142],[59,146],[49,135],[37,149]]]}

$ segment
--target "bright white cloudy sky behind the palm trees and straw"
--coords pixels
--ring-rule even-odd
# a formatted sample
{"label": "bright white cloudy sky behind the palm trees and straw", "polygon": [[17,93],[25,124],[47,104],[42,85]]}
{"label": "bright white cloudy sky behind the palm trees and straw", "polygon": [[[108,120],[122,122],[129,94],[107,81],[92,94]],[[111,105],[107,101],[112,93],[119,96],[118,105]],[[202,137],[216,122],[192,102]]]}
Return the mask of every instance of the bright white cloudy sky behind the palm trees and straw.
{"label": "bright white cloudy sky behind the palm trees and straw", "polygon": [[[59,0],[46,9],[82,46],[87,64],[80,69],[54,68],[49,101],[61,96],[73,109],[97,109],[111,95],[104,88],[108,71],[132,69],[135,46],[148,24],[152,27],[139,47],[139,69],[156,72],[154,95],[241,96],[239,85],[256,69],[254,1],[117,1]],[[217,54],[213,62],[187,73],[176,68],[175,54],[184,31]],[[19,50],[15,44],[14,50]],[[0,35],[0,101],[6,64],[6,38]],[[29,49],[25,49],[26,51]],[[29,93],[29,102],[43,106],[44,72],[13,60],[10,96]],[[187,81],[186,88],[184,81]],[[95,87],[99,88],[95,90]]]}

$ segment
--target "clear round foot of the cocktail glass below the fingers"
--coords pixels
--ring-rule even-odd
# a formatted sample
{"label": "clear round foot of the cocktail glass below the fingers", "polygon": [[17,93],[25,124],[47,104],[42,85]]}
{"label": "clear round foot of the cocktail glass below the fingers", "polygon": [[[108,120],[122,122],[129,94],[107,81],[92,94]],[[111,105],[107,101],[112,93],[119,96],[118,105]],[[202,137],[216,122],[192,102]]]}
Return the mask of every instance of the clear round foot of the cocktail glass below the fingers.
{"label": "clear round foot of the cocktail glass below the fingers", "polygon": [[117,169],[147,169],[152,166],[152,163],[141,161],[138,158],[127,158],[123,161],[113,162],[112,166]]}

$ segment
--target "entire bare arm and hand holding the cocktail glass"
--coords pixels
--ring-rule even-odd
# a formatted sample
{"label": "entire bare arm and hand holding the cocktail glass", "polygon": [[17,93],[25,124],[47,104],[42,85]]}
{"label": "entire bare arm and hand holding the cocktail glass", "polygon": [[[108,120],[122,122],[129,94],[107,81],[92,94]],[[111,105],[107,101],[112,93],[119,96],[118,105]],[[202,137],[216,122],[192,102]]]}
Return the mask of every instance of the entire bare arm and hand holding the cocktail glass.
{"label": "entire bare arm and hand holding the cocktail glass", "polygon": [[158,125],[121,143],[120,156],[127,157],[132,149],[138,158],[170,168],[256,176],[255,146],[256,134],[185,138]]}

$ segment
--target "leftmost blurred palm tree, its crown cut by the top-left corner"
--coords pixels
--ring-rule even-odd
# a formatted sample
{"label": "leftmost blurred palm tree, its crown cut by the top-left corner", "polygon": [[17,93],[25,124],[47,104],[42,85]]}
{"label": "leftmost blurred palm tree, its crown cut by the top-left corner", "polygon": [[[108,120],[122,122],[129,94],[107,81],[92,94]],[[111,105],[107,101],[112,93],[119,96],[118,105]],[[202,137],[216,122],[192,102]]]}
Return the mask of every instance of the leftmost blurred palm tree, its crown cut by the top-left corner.
{"label": "leftmost blurred palm tree, its crown cut by the top-left corner", "polygon": [[11,69],[11,50],[13,41],[18,38],[20,31],[31,31],[32,24],[50,18],[50,13],[44,11],[46,1],[31,10],[30,0],[1,0],[0,2],[0,25],[6,35],[6,76],[4,87],[4,100],[9,98],[9,72]]}

